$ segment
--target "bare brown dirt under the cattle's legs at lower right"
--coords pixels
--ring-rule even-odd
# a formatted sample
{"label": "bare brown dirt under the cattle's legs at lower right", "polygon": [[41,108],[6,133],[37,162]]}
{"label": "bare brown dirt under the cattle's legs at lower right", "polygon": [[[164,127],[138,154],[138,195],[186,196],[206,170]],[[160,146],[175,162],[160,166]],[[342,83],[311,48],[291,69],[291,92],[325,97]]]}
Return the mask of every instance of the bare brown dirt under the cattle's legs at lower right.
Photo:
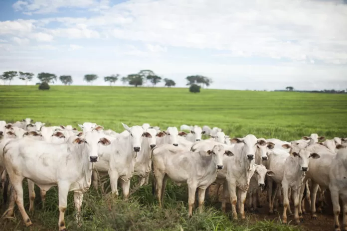
{"label": "bare brown dirt under the cattle's legs at lower right", "polygon": [[[218,204],[217,206],[220,206],[220,203],[222,202],[222,188],[223,186],[220,186],[219,189],[219,197],[218,197]],[[217,190],[217,185],[211,185],[210,188],[210,198],[211,200],[216,199],[216,190]],[[311,208],[309,208],[308,203],[305,203],[305,208],[307,214],[303,215],[304,218],[304,223],[300,225],[300,227],[305,230],[305,231],[328,231],[328,230],[333,230],[334,226],[334,214],[333,214],[333,206],[331,202],[331,196],[329,190],[327,190],[325,194],[326,198],[326,204],[327,206],[324,208],[323,213],[317,213],[317,220],[312,220],[311,219]],[[246,199],[246,205],[245,205],[245,211],[248,211],[248,197]],[[260,197],[260,203],[263,206],[262,208],[258,208],[258,212],[255,213],[250,213],[246,212],[246,216],[250,216],[251,220],[256,221],[263,221],[263,220],[275,220],[275,221],[281,221],[282,220],[282,214],[283,214],[283,207],[278,208],[278,212],[276,214],[271,214],[269,215],[269,204],[267,202],[267,192],[264,191]],[[291,210],[294,213],[294,205],[291,203]],[[341,201],[340,201],[341,204]],[[342,204],[341,204],[342,205]],[[220,207],[219,207],[220,208]],[[227,201],[226,205],[226,212],[231,210],[231,205],[230,201]],[[342,214],[340,214],[340,222],[342,222]],[[288,224],[290,225],[296,225],[295,220],[294,220],[294,214],[290,215],[287,211],[287,220]],[[340,223],[342,225],[342,223]]]}

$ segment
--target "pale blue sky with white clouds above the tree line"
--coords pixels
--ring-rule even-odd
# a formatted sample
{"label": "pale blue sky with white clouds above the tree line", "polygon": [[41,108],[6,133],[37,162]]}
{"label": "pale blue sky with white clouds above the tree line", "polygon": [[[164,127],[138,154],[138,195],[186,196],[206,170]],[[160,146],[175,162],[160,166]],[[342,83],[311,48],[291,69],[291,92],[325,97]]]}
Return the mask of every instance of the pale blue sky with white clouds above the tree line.
{"label": "pale blue sky with white clouds above the tree line", "polygon": [[199,74],[215,89],[346,89],[346,28],[343,0],[0,0],[0,72],[74,85],[94,73],[107,85],[151,69],[178,87]]}

